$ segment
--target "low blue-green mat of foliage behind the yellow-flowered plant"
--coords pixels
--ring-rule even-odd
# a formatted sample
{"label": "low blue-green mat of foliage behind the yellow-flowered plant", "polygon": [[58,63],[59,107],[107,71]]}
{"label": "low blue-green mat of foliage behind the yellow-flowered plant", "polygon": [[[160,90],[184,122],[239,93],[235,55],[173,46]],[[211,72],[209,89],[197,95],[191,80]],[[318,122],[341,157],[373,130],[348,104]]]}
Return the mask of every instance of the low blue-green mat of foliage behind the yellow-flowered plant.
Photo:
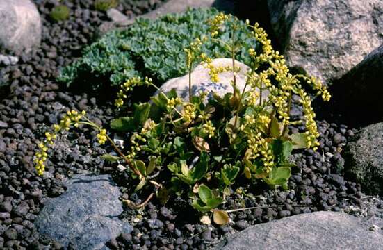
{"label": "low blue-green mat of foliage behind the yellow-flowered plant", "polygon": [[[112,86],[118,86],[133,76],[150,76],[158,79],[161,85],[163,81],[189,71],[184,48],[194,38],[209,32],[207,22],[217,14],[215,9],[193,9],[156,20],[137,19],[127,29],[112,31],[85,48],[79,60],[63,69],[58,81],[67,85],[75,82],[92,84],[90,87],[97,89],[105,78]],[[232,22],[238,26],[237,37],[243,40],[243,47],[236,51],[236,57],[243,63],[250,63],[247,50],[256,41],[243,22],[237,19]],[[219,37],[228,42],[229,35],[230,31],[225,31]],[[202,44],[201,50],[214,58],[231,56],[225,45],[210,39]],[[87,82],[89,76],[103,81]]]}

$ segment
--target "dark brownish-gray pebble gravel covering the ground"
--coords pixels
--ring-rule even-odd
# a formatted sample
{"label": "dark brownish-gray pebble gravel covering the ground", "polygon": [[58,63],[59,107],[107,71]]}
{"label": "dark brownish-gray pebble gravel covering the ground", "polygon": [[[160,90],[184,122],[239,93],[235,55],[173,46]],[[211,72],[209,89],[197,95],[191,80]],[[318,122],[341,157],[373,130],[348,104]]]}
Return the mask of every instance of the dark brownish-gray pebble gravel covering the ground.
{"label": "dark brownish-gray pebble gravel covering the ground", "polygon": [[[127,15],[138,15],[161,1],[121,3],[118,9]],[[80,56],[81,48],[92,42],[96,27],[107,20],[105,13],[92,9],[92,1],[61,1],[71,8],[65,22],[51,22],[49,10],[58,1],[35,0],[44,24],[40,49],[31,55],[21,54],[17,65],[0,69],[2,81],[10,83],[10,94],[0,102],[0,249],[60,249],[58,242],[40,237],[33,226],[44,199],[65,192],[63,181],[83,172],[115,173],[99,156],[106,152],[95,142],[94,133],[86,128],[57,140],[47,162],[50,173],[35,175],[33,153],[36,141],[45,129],[56,123],[68,109],[88,110],[100,124],[113,117],[110,103],[97,105],[87,94],[75,95],[60,87],[54,78],[58,69]],[[0,51],[6,54],[7,51]],[[299,108],[292,115],[301,115]],[[190,201],[178,197],[167,206],[152,201],[143,210],[125,208],[122,217],[134,226],[108,242],[111,249],[207,249],[227,234],[253,224],[270,222],[317,210],[345,210],[358,216],[383,215],[383,203],[366,197],[360,185],[343,178],[341,151],[355,131],[346,126],[318,122],[320,149],[306,150],[293,157],[297,167],[288,184],[289,190],[268,190],[263,186],[236,190],[222,209],[229,213],[227,226],[206,226],[199,222]],[[302,128],[291,128],[292,131]],[[124,183],[127,176],[115,173],[115,181]],[[235,187],[234,187],[235,189]],[[261,191],[264,190],[264,191]],[[136,194],[122,188],[122,198],[140,201]],[[140,197],[142,199],[142,197]]]}

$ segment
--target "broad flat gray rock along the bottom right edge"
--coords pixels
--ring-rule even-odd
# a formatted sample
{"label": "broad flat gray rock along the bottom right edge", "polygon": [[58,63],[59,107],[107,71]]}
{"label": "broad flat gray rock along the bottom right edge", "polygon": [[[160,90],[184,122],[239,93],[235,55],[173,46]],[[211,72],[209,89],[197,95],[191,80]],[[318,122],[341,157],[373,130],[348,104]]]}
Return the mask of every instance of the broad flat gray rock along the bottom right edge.
{"label": "broad flat gray rock along the bottom right edge", "polygon": [[382,230],[373,232],[370,226],[345,213],[295,215],[246,228],[215,249],[383,249]]}

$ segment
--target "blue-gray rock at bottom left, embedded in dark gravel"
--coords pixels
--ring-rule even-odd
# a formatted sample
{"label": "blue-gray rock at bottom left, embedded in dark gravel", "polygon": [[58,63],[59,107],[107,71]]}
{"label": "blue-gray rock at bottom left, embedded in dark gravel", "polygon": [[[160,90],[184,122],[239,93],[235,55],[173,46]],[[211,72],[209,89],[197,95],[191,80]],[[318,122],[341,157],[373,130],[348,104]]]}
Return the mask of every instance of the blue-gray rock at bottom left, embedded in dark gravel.
{"label": "blue-gray rock at bottom left, embedded in dark gravel", "polygon": [[35,226],[42,235],[75,249],[107,249],[105,243],[132,227],[122,222],[120,190],[110,175],[73,176],[60,197],[49,199]]}

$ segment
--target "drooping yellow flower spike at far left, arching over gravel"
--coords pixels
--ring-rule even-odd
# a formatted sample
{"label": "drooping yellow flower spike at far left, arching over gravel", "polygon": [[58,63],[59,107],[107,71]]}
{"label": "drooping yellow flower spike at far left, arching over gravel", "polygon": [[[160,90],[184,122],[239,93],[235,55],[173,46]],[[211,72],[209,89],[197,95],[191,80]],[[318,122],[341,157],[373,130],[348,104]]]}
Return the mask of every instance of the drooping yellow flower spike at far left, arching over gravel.
{"label": "drooping yellow flower spike at far left, arching over gravel", "polygon": [[70,126],[79,126],[79,122],[82,117],[86,115],[85,111],[79,113],[76,110],[67,111],[63,119],[60,120],[59,124],[54,124],[52,126],[53,133],[46,132],[45,139],[43,142],[38,144],[39,150],[35,153],[35,169],[38,172],[38,175],[44,174],[45,170],[45,161],[47,160],[48,154],[47,151],[49,146],[54,144],[54,140],[57,138],[57,133],[60,131],[68,131]]}

